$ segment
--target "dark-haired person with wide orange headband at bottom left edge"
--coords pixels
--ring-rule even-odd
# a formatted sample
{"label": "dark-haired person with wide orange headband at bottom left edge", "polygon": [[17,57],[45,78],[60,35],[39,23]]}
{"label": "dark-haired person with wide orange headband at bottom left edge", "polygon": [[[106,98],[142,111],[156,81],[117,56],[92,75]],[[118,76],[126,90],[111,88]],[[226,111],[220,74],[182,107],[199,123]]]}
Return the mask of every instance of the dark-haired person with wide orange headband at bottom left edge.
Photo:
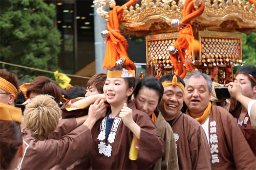
{"label": "dark-haired person with wide orange headband at bottom left edge", "polygon": [[15,169],[23,156],[22,110],[0,103],[0,169]]}

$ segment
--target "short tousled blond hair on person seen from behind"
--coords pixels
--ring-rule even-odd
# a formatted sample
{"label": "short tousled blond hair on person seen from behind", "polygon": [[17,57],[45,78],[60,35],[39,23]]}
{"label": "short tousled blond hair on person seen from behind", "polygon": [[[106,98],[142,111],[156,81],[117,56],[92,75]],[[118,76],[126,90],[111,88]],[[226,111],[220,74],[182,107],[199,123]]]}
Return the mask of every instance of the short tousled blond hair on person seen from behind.
{"label": "short tousled blond hair on person seen from behind", "polygon": [[26,105],[25,128],[47,137],[56,129],[60,116],[61,110],[51,95],[37,95]]}

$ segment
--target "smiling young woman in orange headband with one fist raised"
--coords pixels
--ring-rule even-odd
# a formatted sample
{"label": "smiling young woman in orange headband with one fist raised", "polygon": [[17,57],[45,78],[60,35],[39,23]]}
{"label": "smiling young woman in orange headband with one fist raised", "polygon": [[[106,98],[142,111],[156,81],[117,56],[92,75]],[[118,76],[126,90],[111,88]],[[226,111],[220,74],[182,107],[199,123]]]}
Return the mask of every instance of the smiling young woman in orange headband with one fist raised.
{"label": "smiling young woman in orange headband with one fist raised", "polygon": [[[108,71],[103,86],[111,110],[91,130],[93,169],[148,169],[164,154],[164,141],[152,119],[135,108],[135,71]],[[89,110],[90,114],[90,110]]]}

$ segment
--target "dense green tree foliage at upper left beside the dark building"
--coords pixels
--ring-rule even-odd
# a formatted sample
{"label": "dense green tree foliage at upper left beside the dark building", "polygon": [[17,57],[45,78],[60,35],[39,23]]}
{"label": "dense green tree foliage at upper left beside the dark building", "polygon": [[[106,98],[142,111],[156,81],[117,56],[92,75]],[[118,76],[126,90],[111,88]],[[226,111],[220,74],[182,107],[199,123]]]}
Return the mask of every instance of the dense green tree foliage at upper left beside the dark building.
{"label": "dense green tree foliage at upper left beside the dark building", "polygon": [[[53,27],[56,15],[55,5],[42,0],[0,1],[1,8],[1,61],[39,68],[49,71],[59,70],[57,54],[60,52],[61,35]],[[15,72],[21,79],[53,74],[2,65]],[[29,76],[25,76],[29,75]]]}

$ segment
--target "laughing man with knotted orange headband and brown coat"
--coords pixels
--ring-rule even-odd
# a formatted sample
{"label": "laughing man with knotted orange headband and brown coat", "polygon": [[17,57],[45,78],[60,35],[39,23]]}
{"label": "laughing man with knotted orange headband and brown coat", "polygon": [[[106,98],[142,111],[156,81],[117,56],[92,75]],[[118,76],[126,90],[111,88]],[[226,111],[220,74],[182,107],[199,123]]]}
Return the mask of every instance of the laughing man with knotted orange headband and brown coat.
{"label": "laughing man with knotted orange headband and brown coat", "polygon": [[211,169],[209,145],[200,124],[181,112],[184,102],[184,82],[176,75],[164,75],[164,87],[158,109],[172,126],[176,141],[179,169]]}

